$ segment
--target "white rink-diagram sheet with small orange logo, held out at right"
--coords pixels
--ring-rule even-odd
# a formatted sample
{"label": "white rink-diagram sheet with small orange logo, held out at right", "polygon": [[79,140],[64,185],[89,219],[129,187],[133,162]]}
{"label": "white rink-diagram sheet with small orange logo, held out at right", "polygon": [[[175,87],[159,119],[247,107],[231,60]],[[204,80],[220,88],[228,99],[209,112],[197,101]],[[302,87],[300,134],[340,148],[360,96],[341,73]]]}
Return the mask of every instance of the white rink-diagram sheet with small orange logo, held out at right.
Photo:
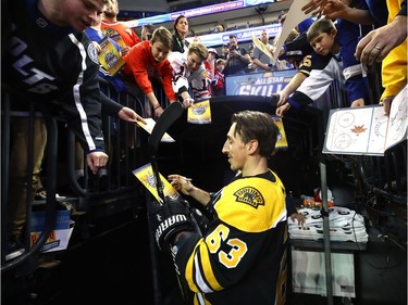
{"label": "white rink-diagram sheet with small orange logo, held out at right", "polygon": [[390,115],[383,106],[331,110],[323,153],[384,155],[408,137],[408,85],[394,98]]}

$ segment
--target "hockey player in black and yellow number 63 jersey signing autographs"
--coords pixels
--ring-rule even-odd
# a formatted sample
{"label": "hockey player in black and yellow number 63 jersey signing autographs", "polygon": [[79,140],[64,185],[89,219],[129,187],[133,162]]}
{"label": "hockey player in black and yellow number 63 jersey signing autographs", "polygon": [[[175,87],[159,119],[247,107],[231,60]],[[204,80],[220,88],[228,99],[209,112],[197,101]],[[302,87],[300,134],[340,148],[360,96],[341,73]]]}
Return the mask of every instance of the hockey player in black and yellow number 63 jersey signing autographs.
{"label": "hockey player in black and yellow number 63 jersey signing autographs", "polygon": [[168,177],[177,191],[202,204],[209,218],[201,237],[180,201],[150,214],[158,245],[171,245],[181,279],[195,293],[194,304],[285,303],[285,189],[268,168],[277,135],[269,114],[236,113],[222,148],[238,173],[230,185],[209,193],[180,175]]}

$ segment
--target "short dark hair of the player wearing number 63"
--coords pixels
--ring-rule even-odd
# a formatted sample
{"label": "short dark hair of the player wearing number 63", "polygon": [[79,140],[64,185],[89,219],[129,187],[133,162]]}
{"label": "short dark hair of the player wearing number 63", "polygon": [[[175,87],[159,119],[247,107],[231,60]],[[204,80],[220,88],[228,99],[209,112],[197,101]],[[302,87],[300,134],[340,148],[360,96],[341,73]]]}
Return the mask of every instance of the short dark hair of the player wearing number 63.
{"label": "short dark hair of the player wearing number 63", "polygon": [[235,135],[239,135],[244,143],[258,140],[261,156],[269,157],[274,152],[280,130],[270,114],[242,111],[233,114],[231,123],[236,123]]}

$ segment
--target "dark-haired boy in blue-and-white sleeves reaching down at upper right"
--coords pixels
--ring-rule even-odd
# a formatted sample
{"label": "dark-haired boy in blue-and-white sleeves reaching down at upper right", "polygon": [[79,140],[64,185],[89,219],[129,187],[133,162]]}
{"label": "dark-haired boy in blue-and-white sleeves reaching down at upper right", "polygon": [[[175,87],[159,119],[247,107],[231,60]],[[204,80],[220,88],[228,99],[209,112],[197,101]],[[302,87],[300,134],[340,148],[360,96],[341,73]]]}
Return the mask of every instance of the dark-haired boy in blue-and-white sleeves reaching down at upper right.
{"label": "dark-haired boy in blue-and-white sleeves reaching down at upper right", "polygon": [[[339,21],[346,23],[345,21]],[[309,77],[305,78],[297,90],[285,101],[277,104],[276,115],[283,116],[290,106],[297,110],[319,99],[333,80],[337,79],[346,87],[350,106],[361,106],[368,101],[368,87],[362,76],[360,63],[354,58],[358,42],[359,27],[354,24],[341,26],[337,30],[331,20],[316,21],[307,33],[307,40],[313,48],[313,59]]]}

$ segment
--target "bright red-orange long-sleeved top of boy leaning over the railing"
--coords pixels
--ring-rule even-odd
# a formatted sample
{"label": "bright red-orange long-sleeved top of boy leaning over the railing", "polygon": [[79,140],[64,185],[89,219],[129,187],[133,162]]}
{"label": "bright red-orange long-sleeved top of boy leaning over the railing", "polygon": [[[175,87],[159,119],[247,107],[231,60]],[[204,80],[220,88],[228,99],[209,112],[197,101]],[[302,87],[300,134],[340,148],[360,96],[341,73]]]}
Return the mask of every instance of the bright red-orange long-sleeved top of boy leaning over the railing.
{"label": "bright red-orange long-sleeved top of boy leaning over the railing", "polygon": [[126,76],[133,75],[145,94],[153,91],[149,76],[159,77],[169,101],[177,100],[172,87],[173,68],[166,59],[160,63],[153,59],[150,41],[141,41],[132,47],[123,60],[126,64],[122,73]]}

